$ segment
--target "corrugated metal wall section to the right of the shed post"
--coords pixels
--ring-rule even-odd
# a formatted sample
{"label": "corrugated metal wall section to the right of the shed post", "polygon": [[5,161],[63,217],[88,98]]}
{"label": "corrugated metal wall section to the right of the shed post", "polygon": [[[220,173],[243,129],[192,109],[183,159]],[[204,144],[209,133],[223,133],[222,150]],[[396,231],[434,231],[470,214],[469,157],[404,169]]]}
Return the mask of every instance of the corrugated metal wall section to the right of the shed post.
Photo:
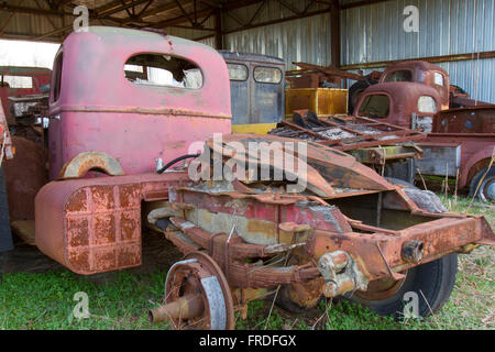
{"label": "corrugated metal wall section to the right of the shed post", "polygon": [[[407,33],[407,6],[419,10],[419,33]],[[495,51],[494,0],[396,0],[341,12],[342,65]],[[453,85],[495,101],[495,58],[442,63]]]}

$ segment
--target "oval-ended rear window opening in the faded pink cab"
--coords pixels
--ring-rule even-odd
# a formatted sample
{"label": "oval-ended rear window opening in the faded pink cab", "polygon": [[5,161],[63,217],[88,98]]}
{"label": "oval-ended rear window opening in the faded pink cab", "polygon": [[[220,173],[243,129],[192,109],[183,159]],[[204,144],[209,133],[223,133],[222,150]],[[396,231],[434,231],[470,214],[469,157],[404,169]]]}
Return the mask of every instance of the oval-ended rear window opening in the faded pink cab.
{"label": "oval-ended rear window opening in the faded pink cab", "polygon": [[199,89],[201,69],[194,63],[163,54],[139,54],[124,65],[125,78],[135,84],[155,87]]}

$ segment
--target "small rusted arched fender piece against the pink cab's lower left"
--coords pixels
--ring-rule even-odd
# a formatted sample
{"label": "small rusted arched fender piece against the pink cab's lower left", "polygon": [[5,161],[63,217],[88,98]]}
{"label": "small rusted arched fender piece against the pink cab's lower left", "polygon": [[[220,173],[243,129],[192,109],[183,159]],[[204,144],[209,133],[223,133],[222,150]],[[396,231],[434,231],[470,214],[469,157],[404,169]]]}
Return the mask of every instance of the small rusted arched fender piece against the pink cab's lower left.
{"label": "small rusted arched fender piece against the pink cab's lower left", "polygon": [[84,152],[74,156],[62,167],[58,179],[80,178],[89,170],[101,170],[109,176],[122,176],[120,163],[103,152]]}

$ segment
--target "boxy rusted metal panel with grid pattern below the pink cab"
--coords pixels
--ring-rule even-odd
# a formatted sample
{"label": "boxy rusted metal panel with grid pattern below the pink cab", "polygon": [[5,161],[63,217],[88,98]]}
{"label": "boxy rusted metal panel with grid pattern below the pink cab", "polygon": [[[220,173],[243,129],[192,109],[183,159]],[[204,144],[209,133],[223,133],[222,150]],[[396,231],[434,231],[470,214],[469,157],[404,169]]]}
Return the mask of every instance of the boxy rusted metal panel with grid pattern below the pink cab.
{"label": "boxy rusted metal panel with grid pattern below the pink cab", "polygon": [[185,174],[52,182],[35,199],[37,248],[78,274],[141,264],[141,200]]}

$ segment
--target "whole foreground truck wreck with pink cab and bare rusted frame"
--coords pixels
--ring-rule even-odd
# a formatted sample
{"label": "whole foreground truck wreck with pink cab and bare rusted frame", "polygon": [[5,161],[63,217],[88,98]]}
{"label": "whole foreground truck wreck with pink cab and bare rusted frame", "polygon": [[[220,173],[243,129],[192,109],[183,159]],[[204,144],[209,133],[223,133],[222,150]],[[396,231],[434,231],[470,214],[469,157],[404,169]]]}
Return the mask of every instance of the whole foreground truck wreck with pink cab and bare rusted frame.
{"label": "whole foreground truck wreck with pink cab and bare rusted frame", "polygon": [[421,292],[427,316],[450,296],[457,253],[494,244],[483,217],[444,212],[435,195],[343,152],[229,134],[229,87],[223,58],[202,44],[100,26],[70,34],[54,64],[38,249],[82,275],[138,266],[148,224],[184,253],[150,319],[232,329],[235,310],[273,294],[292,311],[352,296],[399,315],[404,294]]}

